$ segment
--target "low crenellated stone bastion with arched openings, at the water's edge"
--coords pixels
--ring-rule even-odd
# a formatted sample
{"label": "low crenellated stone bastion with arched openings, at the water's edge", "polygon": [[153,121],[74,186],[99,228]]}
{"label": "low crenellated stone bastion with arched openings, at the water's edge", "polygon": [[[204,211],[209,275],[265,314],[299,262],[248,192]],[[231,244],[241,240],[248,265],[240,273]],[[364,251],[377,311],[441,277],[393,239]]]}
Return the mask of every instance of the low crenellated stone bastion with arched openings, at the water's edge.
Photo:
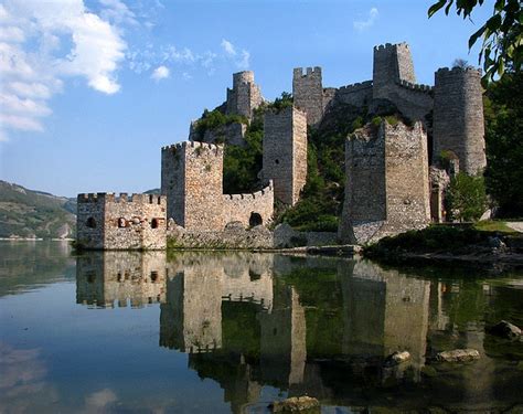
{"label": "low crenellated stone bastion with arched openings, at the water's edge", "polygon": [[157,194],[78,194],[77,240],[85,248],[166,248],[167,199]]}

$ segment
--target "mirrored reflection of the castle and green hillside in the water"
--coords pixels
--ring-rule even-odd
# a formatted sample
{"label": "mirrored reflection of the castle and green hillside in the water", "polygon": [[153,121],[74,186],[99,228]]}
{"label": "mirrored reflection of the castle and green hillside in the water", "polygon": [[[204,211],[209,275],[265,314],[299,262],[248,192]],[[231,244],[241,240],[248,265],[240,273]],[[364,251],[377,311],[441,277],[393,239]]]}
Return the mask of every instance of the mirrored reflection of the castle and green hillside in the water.
{"label": "mirrored reflection of the castle and green hillside in the water", "polygon": [[[521,344],[485,337],[509,314],[522,325],[523,290],[413,277],[365,261],[267,254],[90,253],[77,258],[77,302],[160,302],[162,348],[224,390],[233,412],[264,386],[340,406],[505,410],[521,404]],[[427,357],[474,348],[459,368]],[[384,361],[408,351],[401,367]],[[516,368],[515,368],[516,367]],[[254,405],[252,405],[254,404]]]}

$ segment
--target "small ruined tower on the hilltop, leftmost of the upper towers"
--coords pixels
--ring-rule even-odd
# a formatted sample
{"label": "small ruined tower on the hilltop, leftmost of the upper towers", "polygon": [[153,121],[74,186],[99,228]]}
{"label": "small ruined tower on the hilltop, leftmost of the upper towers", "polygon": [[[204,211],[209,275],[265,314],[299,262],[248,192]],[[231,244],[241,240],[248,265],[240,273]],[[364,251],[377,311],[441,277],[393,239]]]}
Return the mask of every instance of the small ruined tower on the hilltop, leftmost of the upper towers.
{"label": "small ruined tower on the hilltop, leftmost of the upper towers", "polygon": [[233,88],[227,88],[227,114],[237,114],[253,118],[256,109],[264,98],[258,85],[254,83],[254,72],[245,71],[233,74]]}

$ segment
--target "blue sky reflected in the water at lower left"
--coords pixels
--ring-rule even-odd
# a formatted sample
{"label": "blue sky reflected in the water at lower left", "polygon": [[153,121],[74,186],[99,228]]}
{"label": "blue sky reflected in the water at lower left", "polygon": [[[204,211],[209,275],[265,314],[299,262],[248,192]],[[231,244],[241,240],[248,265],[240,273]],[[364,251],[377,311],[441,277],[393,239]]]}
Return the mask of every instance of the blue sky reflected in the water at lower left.
{"label": "blue sky reflected in the water at lower left", "polygon": [[[158,346],[158,305],[93,310],[75,304],[75,284],[60,283],[2,298],[0,307],[2,340],[9,343],[0,365],[3,407],[51,407],[60,400],[68,410],[100,401],[120,407],[125,401],[127,408],[230,410],[218,384],[188,370],[186,354]],[[28,381],[15,382],[17,375]],[[32,392],[36,385],[41,391]],[[54,396],[45,403],[43,394]]]}

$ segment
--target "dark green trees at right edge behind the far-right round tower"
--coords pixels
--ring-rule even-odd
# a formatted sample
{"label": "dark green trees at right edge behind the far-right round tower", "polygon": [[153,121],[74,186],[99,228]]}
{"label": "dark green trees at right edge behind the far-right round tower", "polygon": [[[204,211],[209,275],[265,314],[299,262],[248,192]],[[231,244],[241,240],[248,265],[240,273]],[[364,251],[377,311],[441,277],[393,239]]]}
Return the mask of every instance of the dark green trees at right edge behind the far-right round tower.
{"label": "dark green trees at right edge behind the far-right round tower", "polygon": [[523,216],[523,74],[505,73],[484,98],[489,194],[501,216]]}

